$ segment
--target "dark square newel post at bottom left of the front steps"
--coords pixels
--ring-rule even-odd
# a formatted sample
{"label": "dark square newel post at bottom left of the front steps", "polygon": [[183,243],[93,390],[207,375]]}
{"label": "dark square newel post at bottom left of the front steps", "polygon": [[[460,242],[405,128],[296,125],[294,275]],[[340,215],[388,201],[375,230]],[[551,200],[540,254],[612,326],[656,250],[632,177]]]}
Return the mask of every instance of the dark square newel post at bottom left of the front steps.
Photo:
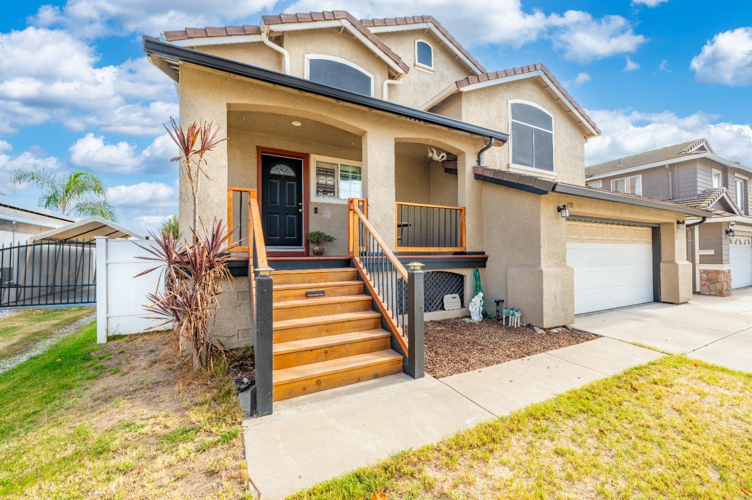
{"label": "dark square newel post at bottom left of the front steps", "polygon": [[271,415],[271,271],[271,268],[256,268],[256,330],[253,332],[253,354],[256,357],[256,417]]}

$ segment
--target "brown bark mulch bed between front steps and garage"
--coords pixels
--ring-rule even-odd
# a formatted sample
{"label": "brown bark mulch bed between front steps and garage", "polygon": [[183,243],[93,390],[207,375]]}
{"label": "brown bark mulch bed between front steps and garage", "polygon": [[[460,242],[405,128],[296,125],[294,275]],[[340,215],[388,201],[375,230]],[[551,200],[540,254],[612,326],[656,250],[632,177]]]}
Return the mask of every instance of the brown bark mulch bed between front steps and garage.
{"label": "brown bark mulch bed between front steps and garage", "polygon": [[426,373],[448,377],[598,338],[578,330],[553,331],[512,328],[496,320],[426,321]]}

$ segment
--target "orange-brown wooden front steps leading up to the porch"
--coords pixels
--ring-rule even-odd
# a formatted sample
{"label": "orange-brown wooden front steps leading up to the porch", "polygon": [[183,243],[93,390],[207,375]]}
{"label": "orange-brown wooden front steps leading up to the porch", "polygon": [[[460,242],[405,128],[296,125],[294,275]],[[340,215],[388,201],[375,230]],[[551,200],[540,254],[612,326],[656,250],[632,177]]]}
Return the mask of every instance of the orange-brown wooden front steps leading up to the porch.
{"label": "orange-brown wooden front steps leading up to the porch", "polygon": [[354,268],[273,271],[273,398],[402,371]]}

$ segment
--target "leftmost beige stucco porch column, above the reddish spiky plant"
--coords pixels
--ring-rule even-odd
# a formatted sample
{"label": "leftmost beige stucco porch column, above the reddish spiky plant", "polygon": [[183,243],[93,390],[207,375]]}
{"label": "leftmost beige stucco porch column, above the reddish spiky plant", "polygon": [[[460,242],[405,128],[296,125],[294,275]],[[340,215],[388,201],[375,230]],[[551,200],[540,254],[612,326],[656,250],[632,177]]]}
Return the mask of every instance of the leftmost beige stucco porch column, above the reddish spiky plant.
{"label": "leftmost beige stucco porch column, above the reddish spiky plant", "polygon": [[[202,79],[202,76],[204,78]],[[227,137],[227,102],[221,91],[206,88],[205,74],[196,68],[180,68],[180,125],[186,129],[190,123],[213,123],[219,128],[217,138]],[[205,156],[209,179],[202,177],[199,190],[199,217],[206,226],[214,218],[227,220],[227,141],[214,147]],[[180,174],[180,205],[178,220],[183,236],[189,234],[193,223],[193,196],[190,184]]]}

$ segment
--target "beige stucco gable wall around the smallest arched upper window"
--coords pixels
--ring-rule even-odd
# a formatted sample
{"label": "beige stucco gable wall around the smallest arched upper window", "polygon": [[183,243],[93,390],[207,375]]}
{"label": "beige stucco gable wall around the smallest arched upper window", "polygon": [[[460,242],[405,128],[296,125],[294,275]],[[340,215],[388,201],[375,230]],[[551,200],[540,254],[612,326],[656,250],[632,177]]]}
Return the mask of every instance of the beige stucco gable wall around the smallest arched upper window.
{"label": "beige stucco gable wall around the smallest arched upper window", "polygon": [[[474,74],[459,62],[447,47],[440,43],[431,32],[422,29],[399,32],[378,33],[392,50],[410,66],[410,71],[399,85],[390,86],[389,100],[401,105],[420,108],[439,92],[456,80]],[[415,41],[423,40],[433,47],[434,71],[415,65]]]}

